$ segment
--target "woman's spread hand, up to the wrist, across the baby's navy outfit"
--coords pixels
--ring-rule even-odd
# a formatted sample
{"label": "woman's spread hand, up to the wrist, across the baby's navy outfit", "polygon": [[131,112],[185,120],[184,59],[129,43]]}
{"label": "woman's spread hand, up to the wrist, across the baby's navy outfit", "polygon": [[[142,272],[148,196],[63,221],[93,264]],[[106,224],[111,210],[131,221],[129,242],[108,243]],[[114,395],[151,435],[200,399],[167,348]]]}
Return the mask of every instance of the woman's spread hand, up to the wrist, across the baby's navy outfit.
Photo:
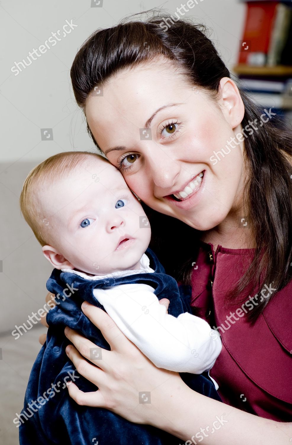
{"label": "woman's spread hand, up to the wrist, across the baby's navy outfit", "polygon": [[[169,301],[162,303],[168,306]],[[95,392],[82,392],[71,383],[70,396],[79,405],[107,408],[132,422],[153,424],[159,399],[164,399],[161,392],[168,392],[171,397],[170,381],[179,389],[185,385],[181,377],[176,372],[156,368],[102,309],[83,303],[82,310],[99,327],[111,350],[98,348],[101,358],[95,359],[97,346],[65,328],[67,338],[75,345],[66,348],[68,357],[79,374],[99,388]]]}

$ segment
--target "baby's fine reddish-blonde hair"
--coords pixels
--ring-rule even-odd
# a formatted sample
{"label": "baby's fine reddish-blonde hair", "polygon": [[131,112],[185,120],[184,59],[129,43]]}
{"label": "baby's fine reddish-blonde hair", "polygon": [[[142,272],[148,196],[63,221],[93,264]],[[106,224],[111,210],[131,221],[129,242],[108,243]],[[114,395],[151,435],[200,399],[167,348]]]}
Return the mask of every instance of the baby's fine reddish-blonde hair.
{"label": "baby's fine reddish-blonde hair", "polygon": [[89,157],[109,162],[106,158],[97,153],[90,153],[87,151],[67,151],[54,154],[50,158],[45,159],[33,168],[25,179],[20,194],[20,210],[41,246],[45,246],[47,240],[45,239],[45,222],[42,219],[43,215],[41,214],[41,210],[38,208],[38,190],[40,182],[51,183],[56,179],[59,179],[64,173],[68,173],[80,166],[83,162],[88,160]]}

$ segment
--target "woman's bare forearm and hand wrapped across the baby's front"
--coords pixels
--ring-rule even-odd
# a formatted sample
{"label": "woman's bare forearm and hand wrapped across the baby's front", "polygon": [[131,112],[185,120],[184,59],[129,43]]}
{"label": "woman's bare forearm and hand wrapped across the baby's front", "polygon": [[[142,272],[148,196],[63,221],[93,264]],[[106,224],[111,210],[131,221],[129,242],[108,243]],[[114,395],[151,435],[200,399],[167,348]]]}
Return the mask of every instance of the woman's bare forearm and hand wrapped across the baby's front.
{"label": "woman's bare forearm and hand wrapped across the baby's front", "polygon": [[68,382],[69,394],[78,405],[109,409],[186,443],[195,443],[196,438],[203,438],[205,445],[289,443],[291,423],[257,417],[193,391],[178,373],[156,368],[102,309],[83,303],[82,310],[101,330],[111,350],[99,348],[100,355],[94,358],[98,347],[65,328],[74,345],[67,346],[68,357],[79,374],[99,388],[83,392]]}

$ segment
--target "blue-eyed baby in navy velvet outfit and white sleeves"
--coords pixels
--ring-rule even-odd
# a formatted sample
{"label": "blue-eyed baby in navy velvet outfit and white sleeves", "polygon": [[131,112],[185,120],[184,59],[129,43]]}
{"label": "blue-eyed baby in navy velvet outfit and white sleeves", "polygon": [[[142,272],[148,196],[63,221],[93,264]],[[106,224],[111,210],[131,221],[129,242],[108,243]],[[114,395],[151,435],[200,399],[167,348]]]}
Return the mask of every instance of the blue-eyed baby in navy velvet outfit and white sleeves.
{"label": "blue-eyed baby in navy velvet outfit and white sleeves", "polygon": [[[54,267],[47,288],[57,296],[56,307],[47,314],[47,342],[34,364],[26,401],[39,395],[40,382],[44,389],[44,380],[48,383],[60,380],[70,367],[74,369],[64,353],[68,344],[63,334],[64,325],[79,330],[101,348],[109,349],[100,331],[80,310],[84,299],[105,309],[122,332],[156,366],[197,374],[186,374],[185,382],[197,392],[221,400],[213,386],[214,383],[217,389],[217,383],[214,380],[212,383],[207,374],[221,352],[220,337],[205,320],[184,312],[176,281],[165,274],[156,255],[148,247],[151,231],[146,214],[117,168],[98,154],[57,154],[30,172],[21,192],[20,206],[25,220],[42,245],[43,255]],[[68,288],[70,295],[66,293]],[[63,298],[58,301],[60,295]],[[162,298],[170,300],[169,314],[159,304]],[[102,358],[101,352],[100,348],[95,348],[91,359]],[[98,361],[95,363],[98,364]],[[198,375],[203,372],[205,376]],[[41,376],[46,378],[43,380]],[[83,385],[88,390],[90,384],[81,380],[77,381],[78,385],[81,384],[79,387],[82,389]],[[99,410],[72,405],[74,402],[64,394],[53,399],[56,393],[51,393],[54,395],[45,398],[45,403],[33,416],[39,420],[29,418],[24,405],[20,444],[28,443],[25,440],[32,434],[37,435],[42,443],[47,443],[44,441],[44,431],[46,440],[54,443],[65,443],[66,440],[68,443],[81,443],[75,433],[70,433],[68,425],[62,433],[59,430],[60,442],[56,441],[54,433],[44,428],[46,417],[41,412],[44,413],[50,403],[57,399],[57,410],[60,406],[66,406],[66,416],[68,410],[77,412],[74,422],[80,435],[88,436],[89,442],[91,433],[97,438],[103,435],[103,426],[96,420]],[[140,403],[147,402],[142,398]],[[82,408],[85,411],[81,412]],[[52,403],[50,413],[51,409]],[[141,434],[145,441],[142,443],[162,444],[167,441],[178,444],[177,438],[160,430],[147,425],[134,425],[107,410],[100,411],[107,413],[105,432],[108,435],[111,429],[113,438],[115,434],[120,434],[117,431],[114,433],[118,417],[122,428],[127,431],[129,425],[133,425],[135,431],[141,428],[140,441]],[[85,413],[89,416],[86,421]],[[32,421],[28,422],[26,417]],[[27,421],[22,422],[23,418]],[[42,428],[39,428],[39,422]],[[86,427],[80,426],[82,422]],[[65,420],[61,422],[62,426],[64,423]],[[99,429],[99,432],[91,431],[89,424],[95,425],[95,431]],[[128,431],[127,434],[131,433]],[[134,439],[129,439],[128,443],[134,443]]]}

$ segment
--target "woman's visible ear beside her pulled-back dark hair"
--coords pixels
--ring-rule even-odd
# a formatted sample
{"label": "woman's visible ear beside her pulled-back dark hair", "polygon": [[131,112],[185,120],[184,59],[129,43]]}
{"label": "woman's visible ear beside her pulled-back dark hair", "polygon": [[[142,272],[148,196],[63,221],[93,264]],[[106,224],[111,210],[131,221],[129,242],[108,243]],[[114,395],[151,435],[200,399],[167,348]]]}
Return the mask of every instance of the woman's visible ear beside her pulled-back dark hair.
{"label": "woman's visible ear beside her pulled-back dark hair", "polygon": [[237,85],[229,77],[222,77],[219,84],[220,108],[232,129],[241,124],[245,115],[245,106]]}

